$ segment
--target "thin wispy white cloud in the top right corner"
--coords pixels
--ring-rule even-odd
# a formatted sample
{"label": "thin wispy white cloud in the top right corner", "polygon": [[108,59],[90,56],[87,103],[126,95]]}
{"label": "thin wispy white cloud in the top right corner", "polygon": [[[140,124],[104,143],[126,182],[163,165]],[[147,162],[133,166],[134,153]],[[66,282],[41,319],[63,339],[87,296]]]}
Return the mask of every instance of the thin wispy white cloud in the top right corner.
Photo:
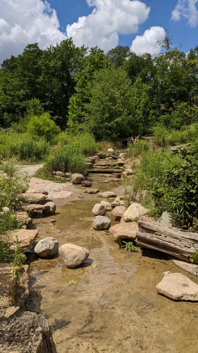
{"label": "thin wispy white cloud in the top right corner", "polygon": [[191,27],[198,25],[198,0],[178,0],[177,5],[172,11],[171,19],[179,21],[181,17],[187,18]]}

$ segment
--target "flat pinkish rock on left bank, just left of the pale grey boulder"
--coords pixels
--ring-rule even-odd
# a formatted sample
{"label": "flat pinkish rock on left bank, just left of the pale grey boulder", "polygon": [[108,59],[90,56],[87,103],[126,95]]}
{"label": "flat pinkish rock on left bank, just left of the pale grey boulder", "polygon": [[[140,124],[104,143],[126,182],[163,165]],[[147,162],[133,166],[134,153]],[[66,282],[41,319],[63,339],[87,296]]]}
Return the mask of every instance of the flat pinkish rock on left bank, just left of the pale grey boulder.
{"label": "flat pinkish rock on left bank, just left of the pale grey boulder", "polygon": [[10,249],[14,250],[16,248],[17,240],[16,235],[18,237],[18,241],[20,243],[20,249],[24,252],[29,250],[34,241],[38,236],[37,229],[17,229],[16,231],[11,233],[12,239],[9,241]]}

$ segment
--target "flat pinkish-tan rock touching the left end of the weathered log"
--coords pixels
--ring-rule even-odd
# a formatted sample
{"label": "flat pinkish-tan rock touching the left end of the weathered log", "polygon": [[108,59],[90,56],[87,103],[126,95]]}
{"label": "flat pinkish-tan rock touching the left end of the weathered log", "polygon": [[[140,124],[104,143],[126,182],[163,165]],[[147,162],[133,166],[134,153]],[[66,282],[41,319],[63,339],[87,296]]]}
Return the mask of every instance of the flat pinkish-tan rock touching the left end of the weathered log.
{"label": "flat pinkish-tan rock touching the left end of the weathered log", "polygon": [[115,238],[129,238],[136,239],[136,232],[138,231],[138,223],[120,223],[111,227],[109,231],[114,235]]}

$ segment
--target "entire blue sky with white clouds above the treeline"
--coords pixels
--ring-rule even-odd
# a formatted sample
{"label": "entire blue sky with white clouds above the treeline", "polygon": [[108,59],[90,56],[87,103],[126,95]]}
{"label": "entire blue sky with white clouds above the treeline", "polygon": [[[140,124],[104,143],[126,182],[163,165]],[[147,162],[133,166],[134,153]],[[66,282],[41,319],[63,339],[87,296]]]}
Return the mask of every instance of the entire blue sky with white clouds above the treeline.
{"label": "entire blue sky with white clouds above the treeline", "polygon": [[117,45],[133,52],[160,53],[165,29],[173,46],[188,52],[198,44],[198,0],[0,0],[0,62],[69,37],[76,46]]}

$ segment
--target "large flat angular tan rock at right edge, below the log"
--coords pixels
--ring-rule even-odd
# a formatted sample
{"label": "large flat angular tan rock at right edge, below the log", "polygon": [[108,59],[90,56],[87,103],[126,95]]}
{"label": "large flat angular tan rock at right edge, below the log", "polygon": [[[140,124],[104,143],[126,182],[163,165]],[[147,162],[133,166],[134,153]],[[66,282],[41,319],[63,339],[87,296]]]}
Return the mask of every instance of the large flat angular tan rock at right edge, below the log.
{"label": "large flat angular tan rock at right edge, below the log", "polygon": [[165,275],[156,291],[173,300],[198,300],[198,285],[181,273]]}

